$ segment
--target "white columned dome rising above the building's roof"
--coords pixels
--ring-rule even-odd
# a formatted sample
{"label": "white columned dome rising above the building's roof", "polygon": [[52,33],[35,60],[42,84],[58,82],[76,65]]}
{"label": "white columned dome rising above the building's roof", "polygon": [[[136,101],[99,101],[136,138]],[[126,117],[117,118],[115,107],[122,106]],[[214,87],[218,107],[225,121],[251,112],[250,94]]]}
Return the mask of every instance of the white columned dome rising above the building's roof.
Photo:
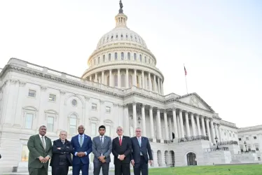
{"label": "white columned dome rising above the building's roof", "polygon": [[[123,7],[122,7],[123,8]],[[116,27],[104,34],[88,58],[82,78],[109,87],[132,86],[163,94],[163,73],[156,68],[156,57],[144,39],[127,27],[127,15],[120,8]]]}

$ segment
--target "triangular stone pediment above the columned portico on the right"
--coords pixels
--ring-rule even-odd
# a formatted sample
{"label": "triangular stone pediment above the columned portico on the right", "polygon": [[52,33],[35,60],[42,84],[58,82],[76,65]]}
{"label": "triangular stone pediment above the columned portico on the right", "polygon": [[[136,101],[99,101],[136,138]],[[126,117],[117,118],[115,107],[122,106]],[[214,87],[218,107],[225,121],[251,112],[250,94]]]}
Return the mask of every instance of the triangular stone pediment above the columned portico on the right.
{"label": "triangular stone pediment above the columned portico on the right", "polygon": [[176,101],[195,106],[199,109],[205,109],[207,111],[214,112],[214,110],[197,93],[191,93],[177,97]]}

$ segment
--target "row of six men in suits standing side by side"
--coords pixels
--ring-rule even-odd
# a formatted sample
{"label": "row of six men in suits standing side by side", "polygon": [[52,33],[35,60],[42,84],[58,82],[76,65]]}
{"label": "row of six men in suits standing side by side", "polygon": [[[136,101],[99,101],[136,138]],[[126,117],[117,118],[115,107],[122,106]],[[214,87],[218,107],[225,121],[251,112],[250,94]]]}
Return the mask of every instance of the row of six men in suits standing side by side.
{"label": "row of six men in suits standing side by side", "polygon": [[[94,175],[109,174],[110,155],[113,153],[115,175],[130,175],[130,163],[135,175],[148,175],[149,164],[153,163],[153,155],[149,139],[142,137],[142,129],[137,127],[136,137],[123,135],[123,127],[117,127],[118,137],[111,140],[105,135],[106,127],[99,126],[99,136],[91,138],[84,134],[85,127],[78,127],[78,134],[67,140],[67,132],[60,132],[60,139],[53,141],[46,137],[46,126],[39,127],[39,134],[29,138],[28,169],[29,175],[47,175],[49,160],[53,175],[67,175],[69,167],[73,167],[73,175],[88,175],[89,154],[94,154]],[[71,155],[73,160],[71,159]]]}

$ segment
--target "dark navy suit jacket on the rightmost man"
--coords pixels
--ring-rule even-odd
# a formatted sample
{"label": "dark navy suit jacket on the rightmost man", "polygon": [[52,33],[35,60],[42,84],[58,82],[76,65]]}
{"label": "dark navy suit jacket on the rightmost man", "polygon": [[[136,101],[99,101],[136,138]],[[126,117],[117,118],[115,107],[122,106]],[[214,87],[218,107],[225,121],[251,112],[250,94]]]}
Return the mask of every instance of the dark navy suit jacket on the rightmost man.
{"label": "dark navy suit jacket on the rightmost man", "polygon": [[132,156],[132,160],[134,160],[135,163],[140,162],[140,153],[142,153],[146,162],[149,162],[149,160],[153,160],[151,146],[149,143],[149,139],[147,139],[147,137],[141,137],[141,147],[139,146],[137,137],[132,137],[131,142],[132,142],[131,156]]}

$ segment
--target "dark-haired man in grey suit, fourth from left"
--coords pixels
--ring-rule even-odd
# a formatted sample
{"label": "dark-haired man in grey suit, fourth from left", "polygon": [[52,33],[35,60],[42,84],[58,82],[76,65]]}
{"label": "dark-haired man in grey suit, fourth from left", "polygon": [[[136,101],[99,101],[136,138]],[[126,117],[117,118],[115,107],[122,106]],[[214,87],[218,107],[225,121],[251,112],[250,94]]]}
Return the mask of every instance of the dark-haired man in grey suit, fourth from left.
{"label": "dark-haired man in grey suit, fourth from left", "polygon": [[110,154],[112,152],[111,137],[106,137],[106,127],[104,125],[99,126],[99,136],[92,139],[92,153],[94,158],[94,175],[100,174],[102,167],[103,175],[109,174],[109,162],[111,162]]}

